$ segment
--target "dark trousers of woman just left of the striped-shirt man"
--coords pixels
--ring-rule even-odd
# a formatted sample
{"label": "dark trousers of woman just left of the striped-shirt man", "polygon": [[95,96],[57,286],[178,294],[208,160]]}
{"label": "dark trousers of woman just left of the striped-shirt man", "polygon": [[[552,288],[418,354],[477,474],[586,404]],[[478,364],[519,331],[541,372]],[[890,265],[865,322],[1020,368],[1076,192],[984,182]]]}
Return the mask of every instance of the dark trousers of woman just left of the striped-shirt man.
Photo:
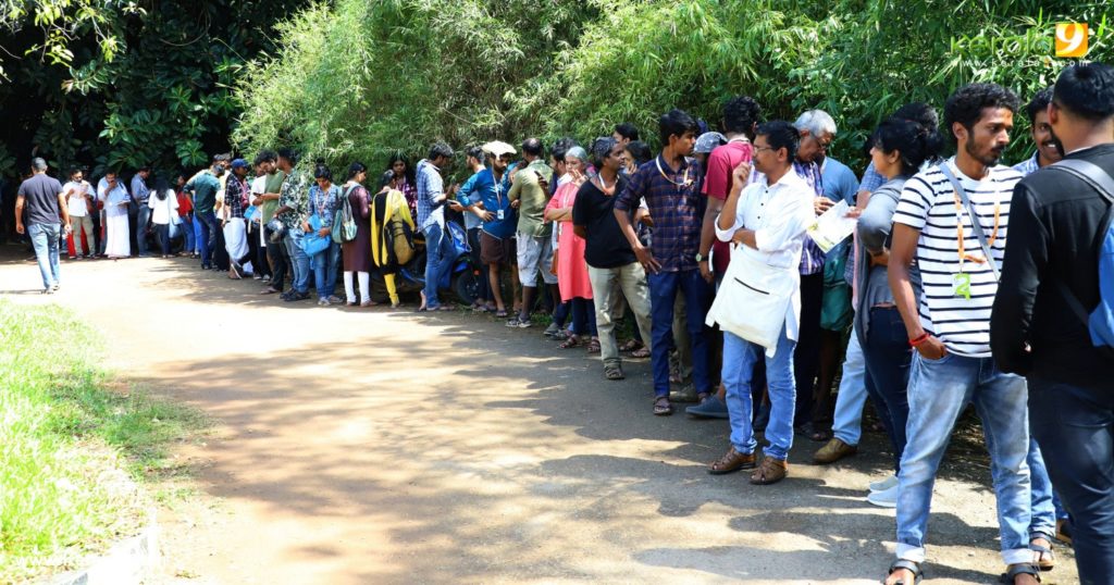
{"label": "dark trousers of woman just left of the striped-shirt man", "polygon": [[[893,446],[893,469],[900,469],[905,452],[906,421],[909,419],[909,348],[905,323],[896,306],[870,309],[870,328],[862,343],[862,357],[870,378],[868,393]],[[886,415],[886,416],[883,416]]]}

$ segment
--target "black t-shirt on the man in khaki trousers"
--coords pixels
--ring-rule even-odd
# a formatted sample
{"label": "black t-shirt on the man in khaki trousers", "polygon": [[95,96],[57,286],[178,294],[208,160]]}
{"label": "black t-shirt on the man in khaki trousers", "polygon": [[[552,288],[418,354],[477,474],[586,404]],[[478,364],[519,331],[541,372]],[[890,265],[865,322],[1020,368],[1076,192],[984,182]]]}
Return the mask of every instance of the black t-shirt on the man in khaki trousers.
{"label": "black t-shirt on the man in khaki trousers", "polygon": [[[623,193],[626,179],[618,178],[615,193]],[[605,195],[592,181],[580,186],[573,204],[573,224],[587,230],[584,260],[589,266],[614,269],[636,262],[634,251],[619,230],[613,208],[615,196]]]}

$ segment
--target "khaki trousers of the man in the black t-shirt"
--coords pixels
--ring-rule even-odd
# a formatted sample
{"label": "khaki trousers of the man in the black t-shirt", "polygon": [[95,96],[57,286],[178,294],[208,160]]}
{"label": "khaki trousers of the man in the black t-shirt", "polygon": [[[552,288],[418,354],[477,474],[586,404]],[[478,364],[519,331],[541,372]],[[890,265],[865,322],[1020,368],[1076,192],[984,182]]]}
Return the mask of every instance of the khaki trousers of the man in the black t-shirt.
{"label": "khaki trousers of the man in the black t-shirt", "polygon": [[588,266],[588,280],[592,281],[592,295],[596,302],[596,329],[599,332],[604,365],[619,365],[623,361],[615,342],[615,321],[612,315],[623,296],[631,304],[642,339],[649,347],[649,286],[646,284],[646,272],[637,262],[614,269]]}

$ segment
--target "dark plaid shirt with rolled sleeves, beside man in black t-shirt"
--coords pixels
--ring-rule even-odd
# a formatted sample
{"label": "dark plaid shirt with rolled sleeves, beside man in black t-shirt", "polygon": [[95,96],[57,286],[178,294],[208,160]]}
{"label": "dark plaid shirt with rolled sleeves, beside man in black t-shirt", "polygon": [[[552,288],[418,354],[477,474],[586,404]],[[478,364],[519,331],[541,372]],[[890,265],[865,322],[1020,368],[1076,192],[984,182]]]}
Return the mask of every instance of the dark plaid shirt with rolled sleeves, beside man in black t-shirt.
{"label": "dark plaid shirt with rolled sleeves, beside man in black t-shirt", "polygon": [[[677,185],[686,179],[687,184]],[[646,201],[654,218],[654,257],[662,263],[662,272],[696,270],[706,205],[700,187],[700,163],[682,158],[681,166],[673,172],[658,155],[631,175],[626,188],[615,199],[615,208],[625,213]]]}

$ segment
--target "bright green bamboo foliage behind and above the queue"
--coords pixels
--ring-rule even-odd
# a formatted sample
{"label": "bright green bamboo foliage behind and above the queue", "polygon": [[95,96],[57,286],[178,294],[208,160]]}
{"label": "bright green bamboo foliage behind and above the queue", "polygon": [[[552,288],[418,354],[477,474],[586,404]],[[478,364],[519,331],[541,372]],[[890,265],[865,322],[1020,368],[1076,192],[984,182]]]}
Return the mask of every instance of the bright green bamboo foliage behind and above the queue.
{"label": "bright green bamboo foliage behind and above the queue", "polygon": [[[280,48],[248,64],[235,142],[343,164],[421,154],[437,139],[587,142],[618,121],[656,142],[666,109],[715,127],[723,100],[746,94],[768,118],[828,110],[841,128],[834,156],[861,162],[866,136],[901,104],[942,108],[971,81],[1023,100],[1047,86],[1069,62],[1052,57],[1056,22],[1091,23],[1088,58],[1114,62],[1111,10],[1036,0],[339,0],[284,23]],[[1015,140],[1007,157],[1025,156],[1027,143]]]}

